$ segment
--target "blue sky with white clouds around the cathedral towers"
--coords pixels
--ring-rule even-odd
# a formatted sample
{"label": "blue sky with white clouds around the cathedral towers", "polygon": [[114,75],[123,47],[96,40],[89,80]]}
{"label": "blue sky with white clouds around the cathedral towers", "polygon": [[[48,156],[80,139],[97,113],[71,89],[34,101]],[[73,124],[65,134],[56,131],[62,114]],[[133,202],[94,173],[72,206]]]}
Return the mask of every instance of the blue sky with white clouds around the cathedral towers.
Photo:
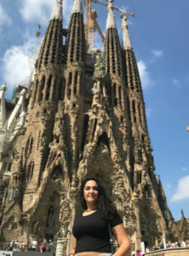
{"label": "blue sky with white clouds around the cathedral towers", "polygon": [[[67,28],[74,0],[63,0]],[[106,0],[103,0],[106,2]],[[33,54],[49,24],[55,0],[0,0],[0,84],[6,98],[14,84],[31,73]],[[107,10],[92,3],[105,34]],[[175,220],[183,209],[189,218],[189,1],[115,0],[114,5],[135,13],[129,16],[129,34],[140,70],[148,131],[156,174],[160,175]],[[84,7],[84,6],[83,6]],[[122,40],[120,12],[114,11]],[[95,47],[102,48],[96,32]]]}

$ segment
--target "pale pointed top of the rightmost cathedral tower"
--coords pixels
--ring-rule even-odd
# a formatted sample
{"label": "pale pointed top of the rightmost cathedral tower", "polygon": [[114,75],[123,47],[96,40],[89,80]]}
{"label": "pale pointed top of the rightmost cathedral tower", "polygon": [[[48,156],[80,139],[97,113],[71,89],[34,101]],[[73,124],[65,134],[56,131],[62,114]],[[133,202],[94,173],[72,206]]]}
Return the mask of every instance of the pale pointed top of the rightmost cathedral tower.
{"label": "pale pointed top of the rightmost cathedral tower", "polygon": [[129,37],[129,30],[128,30],[128,16],[126,14],[120,15],[120,17],[123,20],[122,23],[122,29],[123,29],[123,49],[133,49],[133,46],[130,42],[130,37]]}

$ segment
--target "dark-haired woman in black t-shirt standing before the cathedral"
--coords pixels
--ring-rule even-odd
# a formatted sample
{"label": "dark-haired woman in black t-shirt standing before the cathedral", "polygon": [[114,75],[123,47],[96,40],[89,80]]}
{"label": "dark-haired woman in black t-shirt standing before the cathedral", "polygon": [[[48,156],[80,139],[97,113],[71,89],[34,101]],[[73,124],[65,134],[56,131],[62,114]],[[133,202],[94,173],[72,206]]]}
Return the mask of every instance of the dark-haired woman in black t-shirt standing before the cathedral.
{"label": "dark-haired woman in black t-shirt standing before the cathedral", "polygon": [[73,243],[69,256],[110,256],[112,246],[110,231],[117,239],[119,248],[114,256],[130,251],[130,241],[122,218],[107,197],[100,181],[95,177],[83,180],[80,199],[84,212],[80,212],[73,224]]}

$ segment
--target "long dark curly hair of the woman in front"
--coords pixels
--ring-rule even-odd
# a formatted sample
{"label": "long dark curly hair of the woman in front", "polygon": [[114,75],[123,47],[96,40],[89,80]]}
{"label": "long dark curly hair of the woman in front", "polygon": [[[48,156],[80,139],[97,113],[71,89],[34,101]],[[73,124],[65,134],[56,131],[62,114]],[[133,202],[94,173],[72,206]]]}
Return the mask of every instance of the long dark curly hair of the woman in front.
{"label": "long dark curly hair of the woman in front", "polygon": [[80,188],[80,200],[81,200],[81,204],[84,210],[87,210],[87,203],[84,199],[83,196],[83,190],[84,190],[84,186],[85,184],[89,181],[89,180],[94,180],[97,185],[98,185],[98,191],[99,191],[99,200],[98,200],[98,209],[99,212],[101,214],[101,217],[104,220],[110,220],[113,217],[114,212],[117,211],[117,208],[114,206],[114,204],[112,203],[112,201],[109,199],[109,197],[106,195],[106,191],[103,188],[102,184],[100,183],[100,180],[96,177],[86,177],[82,184],[81,184],[81,188]]}

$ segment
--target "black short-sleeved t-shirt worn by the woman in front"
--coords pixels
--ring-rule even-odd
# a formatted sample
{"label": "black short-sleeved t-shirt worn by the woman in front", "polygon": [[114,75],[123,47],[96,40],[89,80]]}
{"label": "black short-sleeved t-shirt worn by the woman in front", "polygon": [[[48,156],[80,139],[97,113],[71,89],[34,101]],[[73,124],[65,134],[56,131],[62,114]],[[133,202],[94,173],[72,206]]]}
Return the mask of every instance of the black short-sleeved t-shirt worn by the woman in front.
{"label": "black short-sleeved t-shirt worn by the woman in front", "polygon": [[[122,218],[115,212],[110,221],[111,227],[122,223]],[[98,210],[87,216],[80,212],[75,218],[72,233],[77,239],[75,253],[111,253],[108,222],[101,218]]]}

